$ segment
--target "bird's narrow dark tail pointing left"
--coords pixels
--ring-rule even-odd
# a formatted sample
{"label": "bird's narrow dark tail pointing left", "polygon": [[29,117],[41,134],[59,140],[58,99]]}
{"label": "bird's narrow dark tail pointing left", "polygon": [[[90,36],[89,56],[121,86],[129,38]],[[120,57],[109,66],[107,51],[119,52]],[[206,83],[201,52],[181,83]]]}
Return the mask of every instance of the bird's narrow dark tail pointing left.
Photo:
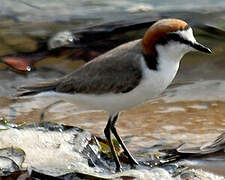
{"label": "bird's narrow dark tail pointing left", "polygon": [[17,88],[16,97],[32,96],[45,91],[54,91],[58,85],[58,80],[45,81],[36,84],[27,84]]}

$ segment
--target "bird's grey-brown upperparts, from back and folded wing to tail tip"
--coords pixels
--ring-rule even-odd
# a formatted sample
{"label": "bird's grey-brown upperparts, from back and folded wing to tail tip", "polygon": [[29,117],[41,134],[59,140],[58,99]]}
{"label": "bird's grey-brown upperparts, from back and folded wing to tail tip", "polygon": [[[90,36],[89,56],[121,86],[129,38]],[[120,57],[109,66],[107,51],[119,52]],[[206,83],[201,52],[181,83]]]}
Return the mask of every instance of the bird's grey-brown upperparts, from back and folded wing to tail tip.
{"label": "bird's grey-brown upperparts, from back and folded wing to tail tip", "polygon": [[[140,49],[129,43],[99,56],[80,69],[54,82],[23,86],[19,95],[54,90],[63,93],[104,94],[125,93],[141,81]],[[127,54],[128,50],[133,53]],[[136,52],[134,52],[136,51]]]}

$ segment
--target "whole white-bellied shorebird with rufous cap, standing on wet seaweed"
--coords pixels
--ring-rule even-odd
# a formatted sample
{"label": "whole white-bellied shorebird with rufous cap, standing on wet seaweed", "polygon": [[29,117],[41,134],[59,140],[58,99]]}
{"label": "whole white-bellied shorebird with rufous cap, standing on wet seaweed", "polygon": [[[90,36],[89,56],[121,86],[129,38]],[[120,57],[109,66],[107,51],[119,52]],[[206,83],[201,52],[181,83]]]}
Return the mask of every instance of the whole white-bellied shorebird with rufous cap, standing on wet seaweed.
{"label": "whole white-bellied shorebird with rufous cap, standing on wet seaweed", "polygon": [[212,53],[196,41],[188,23],[181,19],[161,19],[147,29],[143,38],[119,45],[68,75],[18,87],[17,97],[54,96],[81,109],[107,111],[104,134],[115,171],[120,172],[122,165],[112,135],[131,167],[139,165],[117,132],[115,125],[120,112],[159,96],[174,79],[182,57],[190,51]]}

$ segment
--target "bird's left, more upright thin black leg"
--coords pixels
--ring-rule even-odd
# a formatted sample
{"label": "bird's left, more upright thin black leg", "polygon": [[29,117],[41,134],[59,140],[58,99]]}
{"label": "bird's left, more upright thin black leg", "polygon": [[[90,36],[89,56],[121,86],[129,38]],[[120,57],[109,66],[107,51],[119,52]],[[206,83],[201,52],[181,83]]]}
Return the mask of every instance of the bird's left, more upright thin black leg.
{"label": "bird's left, more upright thin black leg", "polygon": [[107,125],[105,127],[104,133],[105,133],[106,139],[109,142],[109,146],[110,146],[113,158],[114,158],[115,163],[116,163],[116,171],[120,172],[122,170],[122,166],[121,166],[121,164],[119,162],[119,158],[118,158],[118,156],[116,154],[116,151],[115,151],[115,148],[114,148],[114,145],[113,145],[113,142],[112,142],[112,138],[111,138],[112,119],[113,119],[113,116],[110,116],[109,120],[108,120],[108,123],[107,123]]}

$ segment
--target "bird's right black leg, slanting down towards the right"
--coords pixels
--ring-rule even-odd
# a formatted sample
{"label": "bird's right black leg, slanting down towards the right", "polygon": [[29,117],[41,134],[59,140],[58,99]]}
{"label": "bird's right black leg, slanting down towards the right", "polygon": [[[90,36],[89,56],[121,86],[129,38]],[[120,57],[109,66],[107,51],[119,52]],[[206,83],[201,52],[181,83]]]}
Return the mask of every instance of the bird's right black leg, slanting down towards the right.
{"label": "bird's right black leg, slanting down towards the right", "polygon": [[119,142],[119,144],[122,146],[124,153],[127,155],[129,161],[130,161],[130,165],[131,167],[135,167],[136,165],[138,165],[138,162],[134,159],[134,157],[131,155],[131,153],[128,151],[128,149],[126,148],[123,140],[120,138],[119,134],[117,133],[115,124],[116,124],[116,120],[118,119],[118,115],[119,113],[117,113],[115,116],[113,116],[112,118],[112,123],[111,123],[111,131],[113,133],[113,135],[115,136],[115,138],[117,139],[117,141]]}

